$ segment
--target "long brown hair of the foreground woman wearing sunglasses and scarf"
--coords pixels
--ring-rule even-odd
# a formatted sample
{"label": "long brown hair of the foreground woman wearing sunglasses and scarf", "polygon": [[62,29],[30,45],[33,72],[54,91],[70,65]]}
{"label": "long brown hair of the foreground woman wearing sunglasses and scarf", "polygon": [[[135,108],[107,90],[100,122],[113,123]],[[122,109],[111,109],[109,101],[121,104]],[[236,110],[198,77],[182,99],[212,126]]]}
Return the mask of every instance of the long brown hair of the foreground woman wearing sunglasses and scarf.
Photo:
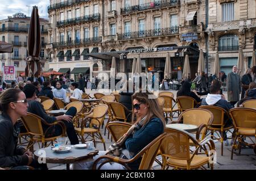
{"label": "long brown hair of the foreground woman wearing sunglasses and scarf", "polygon": [[[144,125],[146,125],[152,117],[158,117],[162,121],[162,123],[165,127],[166,121],[164,119],[163,111],[158,103],[158,100],[157,99],[148,99],[149,95],[154,96],[154,94],[152,94],[150,92],[136,92],[132,96],[132,100],[136,99],[136,100],[138,100],[138,102],[146,104],[148,106],[148,113],[147,113],[146,121],[145,121]],[[135,115],[135,113],[134,113],[134,106],[133,106],[132,120],[134,120],[134,115]],[[138,120],[135,122],[135,124],[137,122],[138,122]]]}

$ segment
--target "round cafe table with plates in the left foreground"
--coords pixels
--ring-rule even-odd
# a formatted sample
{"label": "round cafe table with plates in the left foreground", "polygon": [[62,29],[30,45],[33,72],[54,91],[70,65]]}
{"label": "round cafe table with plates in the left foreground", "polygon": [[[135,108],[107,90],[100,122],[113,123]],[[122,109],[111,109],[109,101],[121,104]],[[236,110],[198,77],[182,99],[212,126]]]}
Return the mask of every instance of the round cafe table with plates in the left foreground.
{"label": "round cafe table with plates in the left foreground", "polygon": [[67,170],[69,170],[69,164],[71,163],[78,163],[81,161],[90,161],[93,159],[95,155],[98,154],[98,150],[96,148],[93,149],[77,149],[74,148],[73,145],[71,146],[72,149],[67,153],[56,153],[52,150],[51,146],[47,148],[42,148],[36,150],[34,155],[35,158],[40,161],[43,159],[46,160],[46,163],[63,163],[67,164]]}

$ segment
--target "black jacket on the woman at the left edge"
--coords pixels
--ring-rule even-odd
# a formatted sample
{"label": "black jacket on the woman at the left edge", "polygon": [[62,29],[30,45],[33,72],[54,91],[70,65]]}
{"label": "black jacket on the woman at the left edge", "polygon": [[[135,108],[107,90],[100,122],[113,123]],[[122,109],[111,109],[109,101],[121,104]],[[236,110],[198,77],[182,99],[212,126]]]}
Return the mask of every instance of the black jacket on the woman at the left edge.
{"label": "black jacket on the woman at the left edge", "polygon": [[27,165],[28,157],[23,155],[25,149],[17,146],[18,135],[18,125],[13,125],[11,118],[2,113],[0,115],[0,167]]}

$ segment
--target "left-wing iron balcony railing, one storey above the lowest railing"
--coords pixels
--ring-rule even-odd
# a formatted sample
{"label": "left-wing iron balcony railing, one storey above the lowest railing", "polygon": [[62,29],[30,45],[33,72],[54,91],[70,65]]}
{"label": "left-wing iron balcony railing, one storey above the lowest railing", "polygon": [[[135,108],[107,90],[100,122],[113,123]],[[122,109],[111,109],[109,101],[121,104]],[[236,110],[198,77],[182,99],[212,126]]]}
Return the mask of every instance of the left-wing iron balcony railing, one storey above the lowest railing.
{"label": "left-wing iron balcony railing, one storey above the lowest railing", "polygon": [[56,26],[62,27],[62,26],[69,26],[72,24],[79,24],[79,23],[85,23],[85,22],[92,22],[100,20],[100,13],[91,14],[91,15],[85,15],[78,18],[71,18],[63,21],[57,22]]}

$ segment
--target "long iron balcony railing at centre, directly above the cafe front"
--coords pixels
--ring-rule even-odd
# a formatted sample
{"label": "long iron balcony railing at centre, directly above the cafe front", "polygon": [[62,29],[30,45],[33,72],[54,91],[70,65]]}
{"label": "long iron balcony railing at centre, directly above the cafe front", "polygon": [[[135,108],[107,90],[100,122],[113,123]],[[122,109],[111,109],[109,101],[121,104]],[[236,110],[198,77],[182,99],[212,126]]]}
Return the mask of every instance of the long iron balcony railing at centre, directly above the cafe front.
{"label": "long iron balcony railing at centre, directly above the cafe front", "polygon": [[179,27],[160,28],[154,30],[135,31],[118,34],[118,40],[138,39],[143,37],[167,36],[179,33]]}

